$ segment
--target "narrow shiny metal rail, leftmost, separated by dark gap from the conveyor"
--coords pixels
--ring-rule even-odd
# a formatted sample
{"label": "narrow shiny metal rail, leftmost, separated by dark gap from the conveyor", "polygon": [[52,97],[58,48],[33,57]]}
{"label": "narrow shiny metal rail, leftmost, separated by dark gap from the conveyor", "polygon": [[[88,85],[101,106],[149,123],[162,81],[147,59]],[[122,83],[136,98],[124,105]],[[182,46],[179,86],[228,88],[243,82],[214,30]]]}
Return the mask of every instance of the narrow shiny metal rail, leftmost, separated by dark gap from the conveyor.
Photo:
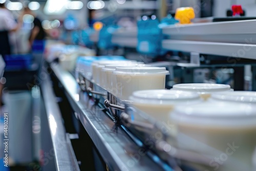
{"label": "narrow shiny metal rail, leftmost, separated by dark gap from the conveyor", "polygon": [[[79,166],[74,157],[74,151],[66,135],[65,127],[62,123],[58,104],[55,101],[49,76],[41,84],[42,96],[45,101],[47,119],[50,126],[50,134],[54,149],[54,159],[56,170],[78,171]],[[61,148],[59,145],[61,144]]]}

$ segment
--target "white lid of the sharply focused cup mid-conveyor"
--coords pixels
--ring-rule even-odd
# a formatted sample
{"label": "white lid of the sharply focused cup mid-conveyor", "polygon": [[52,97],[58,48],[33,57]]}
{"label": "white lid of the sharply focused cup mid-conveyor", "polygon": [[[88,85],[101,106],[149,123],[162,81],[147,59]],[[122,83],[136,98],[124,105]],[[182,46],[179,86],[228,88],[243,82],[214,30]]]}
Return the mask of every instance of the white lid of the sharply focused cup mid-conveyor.
{"label": "white lid of the sharply focused cup mid-conveyor", "polygon": [[164,67],[116,67],[115,75],[167,75]]}

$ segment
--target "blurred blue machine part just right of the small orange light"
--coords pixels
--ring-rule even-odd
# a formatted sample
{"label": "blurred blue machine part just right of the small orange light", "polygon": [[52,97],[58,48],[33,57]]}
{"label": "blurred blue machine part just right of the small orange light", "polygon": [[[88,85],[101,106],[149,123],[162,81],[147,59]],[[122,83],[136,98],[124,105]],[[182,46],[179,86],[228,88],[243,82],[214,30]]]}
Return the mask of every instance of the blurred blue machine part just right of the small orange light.
{"label": "blurred blue machine part just right of the small orange light", "polygon": [[99,40],[98,41],[98,47],[100,49],[112,49],[114,45],[111,42],[112,39],[112,33],[116,31],[118,26],[112,25],[112,26],[103,26],[102,29],[99,32]]}

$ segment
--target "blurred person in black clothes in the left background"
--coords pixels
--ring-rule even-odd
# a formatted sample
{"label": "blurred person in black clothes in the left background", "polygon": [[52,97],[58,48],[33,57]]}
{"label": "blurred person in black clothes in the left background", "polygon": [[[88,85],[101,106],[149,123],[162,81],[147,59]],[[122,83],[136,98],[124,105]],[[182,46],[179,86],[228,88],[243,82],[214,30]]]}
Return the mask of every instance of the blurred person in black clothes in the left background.
{"label": "blurred person in black clothes in the left background", "polygon": [[29,36],[29,46],[32,48],[35,41],[37,42],[44,41],[46,37],[46,32],[42,28],[41,20],[37,18],[36,15],[28,7],[24,8],[23,15],[25,14],[30,14],[34,17],[34,21],[33,21],[34,27],[31,30],[31,34]]}

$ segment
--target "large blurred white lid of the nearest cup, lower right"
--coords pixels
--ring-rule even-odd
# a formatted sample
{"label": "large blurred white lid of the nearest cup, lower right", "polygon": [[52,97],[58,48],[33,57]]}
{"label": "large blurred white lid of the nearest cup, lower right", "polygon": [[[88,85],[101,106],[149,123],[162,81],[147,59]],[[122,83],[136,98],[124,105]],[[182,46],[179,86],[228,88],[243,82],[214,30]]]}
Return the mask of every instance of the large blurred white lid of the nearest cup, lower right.
{"label": "large blurred white lid of the nearest cup, lower right", "polygon": [[178,123],[198,126],[256,127],[256,111],[251,105],[223,102],[205,102],[189,106],[177,106],[172,119]]}

